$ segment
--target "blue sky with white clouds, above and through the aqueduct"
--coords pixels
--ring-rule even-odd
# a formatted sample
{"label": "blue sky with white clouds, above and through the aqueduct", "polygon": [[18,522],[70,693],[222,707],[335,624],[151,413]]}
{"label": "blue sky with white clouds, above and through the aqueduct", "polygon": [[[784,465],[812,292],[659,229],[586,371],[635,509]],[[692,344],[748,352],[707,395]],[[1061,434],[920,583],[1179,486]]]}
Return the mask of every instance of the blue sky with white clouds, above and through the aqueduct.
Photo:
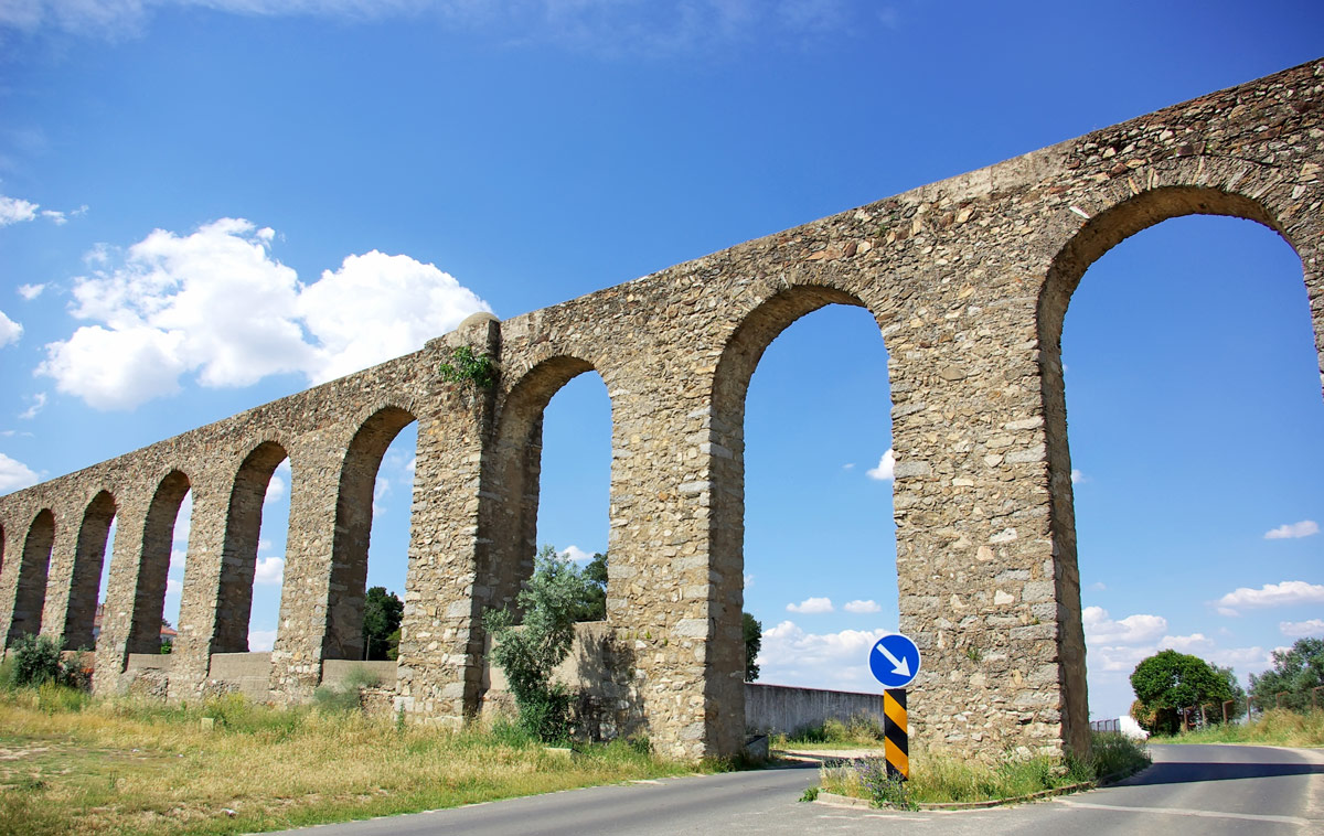
{"label": "blue sky with white clouds, above and through the aqueduct", "polygon": [[[0,491],[506,317],[1319,57],[1312,3],[0,5]],[[1177,647],[1324,635],[1300,262],[1226,218],[1087,274],[1063,339],[1091,710]],[[849,362],[822,361],[849,357]],[[748,402],[764,679],[874,690],[896,626],[886,347],[826,308]],[[548,407],[539,536],[606,545],[610,410]],[[402,591],[413,439],[369,582]],[[253,646],[287,513],[265,513]],[[183,577],[184,524],[172,577]],[[177,611],[177,593],[167,614]]]}

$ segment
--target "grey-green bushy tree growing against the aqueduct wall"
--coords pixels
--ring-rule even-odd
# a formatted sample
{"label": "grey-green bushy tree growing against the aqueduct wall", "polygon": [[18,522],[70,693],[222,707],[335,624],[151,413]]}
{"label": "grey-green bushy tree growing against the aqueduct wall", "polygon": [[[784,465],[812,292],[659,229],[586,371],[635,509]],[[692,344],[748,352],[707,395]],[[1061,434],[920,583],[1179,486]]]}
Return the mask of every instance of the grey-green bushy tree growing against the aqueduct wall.
{"label": "grey-green bushy tree growing against the aqueduct wall", "polygon": [[534,561],[534,575],[516,597],[524,611],[515,626],[511,610],[487,610],[483,622],[493,635],[493,661],[510,683],[519,710],[519,725],[543,741],[569,737],[569,689],[552,681],[552,671],[571,652],[575,612],[584,595],[579,566],[543,546]]}

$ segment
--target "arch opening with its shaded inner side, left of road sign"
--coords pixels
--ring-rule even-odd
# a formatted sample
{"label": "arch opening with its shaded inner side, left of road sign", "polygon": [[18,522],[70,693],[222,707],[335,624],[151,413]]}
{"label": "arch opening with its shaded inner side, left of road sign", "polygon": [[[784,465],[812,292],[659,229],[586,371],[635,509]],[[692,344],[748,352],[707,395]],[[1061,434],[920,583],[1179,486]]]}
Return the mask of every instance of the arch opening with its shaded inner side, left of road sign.
{"label": "arch opening with its shaded inner side, left of road sign", "polygon": [[[829,306],[834,310],[814,314]],[[801,320],[804,323],[797,324]],[[857,324],[861,320],[869,324]],[[870,325],[879,335],[876,343],[863,336]],[[858,690],[878,688],[867,669],[867,644],[873,643],[871,636],[882,632],[878,622],[884,618],[895,622],[898,610],[896,536],[890,489],[892,456],[888,455],[891,396],[886,347],[878,328],[876,315],[853,294],[829,287],[794,287],[752,311],[719,361],[711,438],[715,447],[730,455],[723,452],[711,460],[710,548],[712,571],[720,578],[720,606],[710,648],[710,667],[715,675],[707,677],[708,694],[719,705],[744,704],[739,683],[745,672],[741,630],[745,610],[752,610],[751,614],[763,622],[757,681]],[[777,347],[772,348],[775,343]],[[854,362],[843,362],[837,352],[851,352]],[[866,357],[862,364],[861,355]],[[765,356],[771,365],[756,380]],[[846,382],[835,377],[839,373],[855,377]],[[838,389],[826,392],[831,385]],[[804,398],[809,386],[818,389],[820,397]],[[829,403],[839,407],[842,393],[851,386],[869,389],[870,397],[857,401],[862,411],[834,427],[835,433],[825,430],[824,422],[842,419],[841,410]],[[804,402],[797,402],[797,396]],[[751,409],[759,415],[755,421],[749,421]],[[794,419],[776,414],[785,409],[794,409],[796,415],[802,415],[800,421],[808,423],[794,426]],[[870,419],[870,411],[880,415],[874,414]],[[764,419],[765,413],[773,417]],[[805,470],[797,470],[790,479],[784,460]],[[843,468],[845,464],[854,467]],[[870,471],[875,479],[870,478]],[[794,484],[788,484],[792,481]],[[837,496],[849,496],[849,508],[833,508],[824,495],[828,489],[833,493],[845,489],[846,493]],[[793,499],[797,495],[800,504]],[[818,509],[837,526],[849,521],[858,528],[850,537],[831,540],[839,533],[833,525],[802,522],[808,516],[804,505]],[[871,553],[871,557],[847,561],[858,570],[850,578],[854,583],[825,581],[817,564],[824,560],[818,548],[826,544],[814,542],[816,537],[839,549]],[[747,561],[747,546],[760,552],[752,564]],[[812,553],[797,554],[797,548],[812,549]],[[773,560],[767,560],[769,557]],[[805,562],[813,569],[806,570]],[[883,573],[886,578],[880,582],[866,575],[861,583],[859,573],[878,577],[878,562],[891,562],[892,571]],[[751,565],[755,566],[752,573]],[[748,578],[749,574],[753,577]],[[846,605],[851,605],[850,610]],[[842,638],[865,646],[850,653]],[[829,648],[841,656],[835,660],[839,665],[835,672],[828,669],[831,663],[826,657],[814,659]]]}

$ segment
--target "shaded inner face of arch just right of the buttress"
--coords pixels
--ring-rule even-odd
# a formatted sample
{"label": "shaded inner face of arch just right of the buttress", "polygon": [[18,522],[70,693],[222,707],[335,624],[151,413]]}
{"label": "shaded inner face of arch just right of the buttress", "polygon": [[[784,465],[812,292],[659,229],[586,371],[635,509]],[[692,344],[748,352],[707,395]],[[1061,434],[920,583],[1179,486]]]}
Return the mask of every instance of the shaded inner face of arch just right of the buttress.
{"label": "shaded inner face of arch just right of the buttress", "polygon": [[511,385],[495,422],[494,466],[483,529],[491,538],[482,567],[491,606],[514,603],[520,583],[534,571],[538,550],[539,478],[543,460],[543,413],[552,397],[573,378],[596,366],[581,357],[553,355],[536,361]]}

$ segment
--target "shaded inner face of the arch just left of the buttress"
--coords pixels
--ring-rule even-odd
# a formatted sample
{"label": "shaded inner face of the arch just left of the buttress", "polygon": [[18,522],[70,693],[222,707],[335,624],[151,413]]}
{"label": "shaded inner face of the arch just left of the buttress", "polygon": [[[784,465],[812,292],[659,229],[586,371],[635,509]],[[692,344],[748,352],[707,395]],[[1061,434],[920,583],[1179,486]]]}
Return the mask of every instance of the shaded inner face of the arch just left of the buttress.
{"label": "shaded inner face of the arch just left of the buttress", "polygon": [[369,415],[350,440],[336,491],[323,659],[363,657],[363,603],[372,537],[372,492],[387,447],[400,430],[414,421],[413,413],[399,406],[385,406]]}

